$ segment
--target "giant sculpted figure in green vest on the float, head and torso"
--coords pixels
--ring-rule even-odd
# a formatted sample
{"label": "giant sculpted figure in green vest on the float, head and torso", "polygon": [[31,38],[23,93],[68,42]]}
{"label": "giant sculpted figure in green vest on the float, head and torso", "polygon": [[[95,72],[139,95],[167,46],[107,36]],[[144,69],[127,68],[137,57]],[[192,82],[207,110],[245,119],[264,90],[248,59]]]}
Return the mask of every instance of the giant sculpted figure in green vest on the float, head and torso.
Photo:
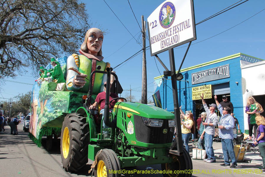
{"label": "giant sculpted figure in green vest on the float, head and torso", "polygon": [[[100,71],[105,71],[107,67],[110,67],[110,63],[105,63],[102,57],[102,42],[103,33],[100,29],[91,28],[87,31],[85,35],[85,40],[81,45],[81,50],[79,53],[81,55],[73,54],[67,58],[67,78],[66,84],[67,89],[72,91],[86,92],[89,90],[90,82],[85,79],[87,77],[90,79],[90,74],[96,70],[96,66],[100,65]],[[74,68],[74,70],[79,71],[81,74],[70,70],[69,68]],[[98,94],[103,91],[104,82],[106,81],[106,76],[102,73],[95,73],[92,78],[92,94]]]}

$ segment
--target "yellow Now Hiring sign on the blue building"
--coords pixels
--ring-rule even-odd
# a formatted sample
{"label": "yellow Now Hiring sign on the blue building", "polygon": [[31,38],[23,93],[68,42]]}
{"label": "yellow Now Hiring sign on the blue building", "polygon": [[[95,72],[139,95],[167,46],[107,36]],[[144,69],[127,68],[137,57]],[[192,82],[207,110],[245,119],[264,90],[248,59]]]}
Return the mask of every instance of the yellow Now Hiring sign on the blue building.
{"label": "yellow Now Hiring sign on the blue building", "polygon": [[203,93],[203,98],[212,98],[212,85],[198,86],[192,88],[192,100],[201,99],[201,94]]}

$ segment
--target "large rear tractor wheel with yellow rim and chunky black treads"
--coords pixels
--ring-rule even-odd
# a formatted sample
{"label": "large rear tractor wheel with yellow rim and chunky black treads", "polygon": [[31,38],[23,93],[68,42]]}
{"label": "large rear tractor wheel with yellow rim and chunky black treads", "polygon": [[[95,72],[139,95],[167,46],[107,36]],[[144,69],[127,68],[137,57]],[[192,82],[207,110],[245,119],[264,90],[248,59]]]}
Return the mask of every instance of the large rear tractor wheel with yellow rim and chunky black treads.
{"label": "large rear tractor wheel with yellow rim and chunky black treads", "polygon": [[61,133],[61,158],[65,171],[80,171],[88,162],[89,124],[82,114],[64,117]]}

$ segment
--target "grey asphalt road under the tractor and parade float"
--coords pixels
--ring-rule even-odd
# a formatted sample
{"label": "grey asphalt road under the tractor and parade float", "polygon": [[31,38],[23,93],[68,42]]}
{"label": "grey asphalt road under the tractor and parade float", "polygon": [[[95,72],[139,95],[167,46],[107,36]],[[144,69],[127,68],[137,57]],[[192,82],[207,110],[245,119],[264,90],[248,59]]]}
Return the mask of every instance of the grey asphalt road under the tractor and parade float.
{"label": "grey asphalt road under the tractor and parade float", "polygon": [[[64,171],[61,163],[60,143],[55,142],[53,149],[45,149],[46,139],[42,139],[43,146],[38,148],[29,139],[28,132],[22,130],[23,122],[18,125],[18,135],[10,135],[10,127],[6,126],[6,131],[0,134],[0,177],[83,177],[91,176],[88,173],[92,161],[90,161],[80,173],[69,173]],[[222,160],[216,163],[207,163],[203,160],[193,160],[193,176],[248,176],[259,177],[264,173],[257,171],[257,165],[251,163],[238,163],[238,167],[230,169],[221,167]],[[161,170],[160,165],[146,165],[139,167],[123,168],[125,171],[151,171]],[[162,174],[123,174],[125,177],[152,176],[162,177]]]}

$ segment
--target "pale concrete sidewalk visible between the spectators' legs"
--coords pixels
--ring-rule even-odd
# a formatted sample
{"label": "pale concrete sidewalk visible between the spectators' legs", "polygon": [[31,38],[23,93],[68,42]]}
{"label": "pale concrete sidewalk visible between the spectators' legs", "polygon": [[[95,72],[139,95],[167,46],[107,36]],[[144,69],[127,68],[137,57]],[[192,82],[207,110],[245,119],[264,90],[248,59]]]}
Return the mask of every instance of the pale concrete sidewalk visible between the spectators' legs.
{"label": "pale concrete sidewalk visible between the spectators' legs", "polygon": [[[194,148],[193,144],[190,142],[190,145],[192,145],[192,148]],[[214,155],[217,159],[223,159],[223,150],[222,150],[222,143],[213,141],[213,151]],[[262,158],[259,156],[260,153],[254,151],[251,151],[251,149],[246,151],[244,161],[247,163],[254,163],[262,165]]]}

